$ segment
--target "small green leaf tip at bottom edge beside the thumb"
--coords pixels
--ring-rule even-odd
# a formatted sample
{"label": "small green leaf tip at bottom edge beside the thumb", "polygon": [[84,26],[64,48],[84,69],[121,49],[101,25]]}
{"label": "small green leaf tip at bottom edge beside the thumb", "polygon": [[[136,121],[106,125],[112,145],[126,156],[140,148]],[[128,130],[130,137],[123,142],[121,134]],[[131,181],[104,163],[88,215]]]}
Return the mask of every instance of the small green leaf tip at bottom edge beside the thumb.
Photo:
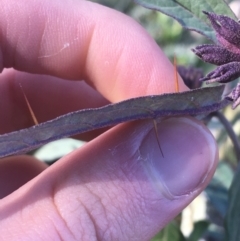
{"label": "small green leaf tip at bottom edge beside the thumb", "polygon": [[178,225],[173,221],[162,229],[151,241],[186,241]]}

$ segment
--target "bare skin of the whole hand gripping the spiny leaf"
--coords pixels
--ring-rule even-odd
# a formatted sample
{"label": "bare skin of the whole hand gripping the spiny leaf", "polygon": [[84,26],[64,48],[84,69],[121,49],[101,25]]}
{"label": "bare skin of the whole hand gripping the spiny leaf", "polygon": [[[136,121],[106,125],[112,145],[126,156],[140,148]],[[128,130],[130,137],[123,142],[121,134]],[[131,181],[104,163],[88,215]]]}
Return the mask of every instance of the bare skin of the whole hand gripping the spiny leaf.
{"label": "bare skin of the whole hand gripping the spiny leaf", "polygon": [[[81,0],[0,5],[1,133],[32,125],[19,82],[39,122],[175,91],[170,61],[119,12]],[[49,168],[24,155],[0,161],[0,240],[150,240],[218,161],[214,138],[190,117],[159,121],[164,158],[151,121],[101,132]]]}

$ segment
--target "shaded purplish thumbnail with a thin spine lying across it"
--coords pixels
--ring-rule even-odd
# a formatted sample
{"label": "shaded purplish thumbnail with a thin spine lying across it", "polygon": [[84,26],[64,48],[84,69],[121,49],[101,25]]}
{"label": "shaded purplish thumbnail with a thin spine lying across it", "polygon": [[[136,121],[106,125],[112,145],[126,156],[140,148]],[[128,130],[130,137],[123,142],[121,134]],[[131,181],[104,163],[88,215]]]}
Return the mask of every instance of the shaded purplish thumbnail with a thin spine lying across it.
{"label": "shaded purplish thumbnail with a thin spine lying across it", "polygon": [[144,169],[166,198],[187,195],[204,185],[218,158],[210,131],[193,118],[169,118],[150,130],[140,146]]}

